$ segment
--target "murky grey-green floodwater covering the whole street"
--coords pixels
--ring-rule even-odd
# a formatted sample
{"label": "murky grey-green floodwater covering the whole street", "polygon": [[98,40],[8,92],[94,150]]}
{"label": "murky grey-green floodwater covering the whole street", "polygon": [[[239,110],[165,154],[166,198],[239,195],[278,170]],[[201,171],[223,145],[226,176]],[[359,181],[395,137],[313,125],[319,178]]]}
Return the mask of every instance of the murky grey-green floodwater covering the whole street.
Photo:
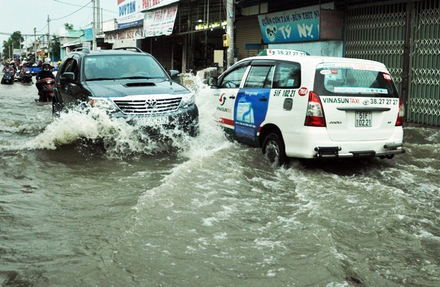
{"label": "murky grey-green floodwater covering the whole street", "polygon": [[440,285],[438,129],[404,128],[391,160],[275,169],[201,95],[199,137],[157,143],[36,93],[0,86],[3,286]]}

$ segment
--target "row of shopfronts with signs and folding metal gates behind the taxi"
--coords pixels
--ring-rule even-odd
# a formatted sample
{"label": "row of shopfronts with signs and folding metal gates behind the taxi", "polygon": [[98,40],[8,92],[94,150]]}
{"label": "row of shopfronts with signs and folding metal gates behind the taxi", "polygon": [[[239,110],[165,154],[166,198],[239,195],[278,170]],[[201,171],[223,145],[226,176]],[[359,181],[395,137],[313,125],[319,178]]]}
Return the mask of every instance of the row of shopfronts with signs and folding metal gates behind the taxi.
{"label": "row of shopfronts with signs and folding metal gates behind the taxi", "polygon": [[439,1],[239,0],[231,13],[224,0],[118,0],[134,3],[129,12],[138,15],[122,15],[128,20],[105,32],[104,43],[135,45],[168,70],[221,72],[228,49],[223,35],[232,17],[236,60],[282,48],[384,62],[404,100],[406,119],[440,126]]}

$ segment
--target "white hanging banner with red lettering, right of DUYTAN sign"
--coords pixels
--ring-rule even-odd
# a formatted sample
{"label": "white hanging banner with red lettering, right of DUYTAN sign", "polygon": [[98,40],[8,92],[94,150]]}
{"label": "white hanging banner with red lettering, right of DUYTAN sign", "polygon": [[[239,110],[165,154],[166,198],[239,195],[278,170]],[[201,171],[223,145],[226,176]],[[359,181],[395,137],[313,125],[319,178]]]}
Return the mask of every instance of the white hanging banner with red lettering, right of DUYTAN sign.
{"label": "white hanging banner with red lettering, right of DUYTAN sign", "polygon": [[173,33],[178,5],[145,12],[144,37],[170,35]]}

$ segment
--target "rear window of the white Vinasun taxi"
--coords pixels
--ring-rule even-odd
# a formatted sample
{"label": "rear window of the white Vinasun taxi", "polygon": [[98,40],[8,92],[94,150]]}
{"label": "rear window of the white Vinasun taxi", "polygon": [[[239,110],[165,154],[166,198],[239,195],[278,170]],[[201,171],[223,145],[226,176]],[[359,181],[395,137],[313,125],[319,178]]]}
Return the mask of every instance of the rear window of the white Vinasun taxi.
{"label": "rear window of the white Vinasun taxi", "polygon": [[318,95],[399,97],[384,67],[325,63],[316,67],[314,91]]}

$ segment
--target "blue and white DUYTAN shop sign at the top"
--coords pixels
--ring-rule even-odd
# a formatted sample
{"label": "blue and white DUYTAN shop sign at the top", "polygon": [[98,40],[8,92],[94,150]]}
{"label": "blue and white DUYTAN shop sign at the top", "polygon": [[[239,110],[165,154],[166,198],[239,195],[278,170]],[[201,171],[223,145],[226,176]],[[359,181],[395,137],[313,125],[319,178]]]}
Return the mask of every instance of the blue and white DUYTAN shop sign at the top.
{"label": "blue and white DUYTAN shop sign at the top", "polygon": [[142,0],[118,0],[118,29],[142,24]]}

